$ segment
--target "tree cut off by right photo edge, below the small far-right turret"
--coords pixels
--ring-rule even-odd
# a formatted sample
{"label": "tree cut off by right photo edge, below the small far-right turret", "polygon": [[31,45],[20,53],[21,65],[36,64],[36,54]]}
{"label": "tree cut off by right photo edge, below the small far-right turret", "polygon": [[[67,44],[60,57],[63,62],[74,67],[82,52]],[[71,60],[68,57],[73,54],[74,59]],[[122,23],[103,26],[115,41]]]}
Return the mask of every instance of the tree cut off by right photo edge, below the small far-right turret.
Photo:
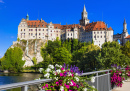
{"label": "tree cut off by right photo edge, below the small far-right turret", "polygon": [[129,40],[121,47],[122,53],[130,58],[130,42]]}

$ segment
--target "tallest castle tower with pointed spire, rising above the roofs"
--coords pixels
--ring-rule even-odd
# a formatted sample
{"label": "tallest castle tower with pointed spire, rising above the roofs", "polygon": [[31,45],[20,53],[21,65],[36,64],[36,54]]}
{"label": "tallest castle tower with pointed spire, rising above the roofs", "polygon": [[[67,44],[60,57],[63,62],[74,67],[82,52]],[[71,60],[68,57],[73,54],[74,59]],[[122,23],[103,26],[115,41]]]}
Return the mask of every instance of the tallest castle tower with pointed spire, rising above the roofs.
{"label": "tallest castle tower with pointed spire, rising above the roofs", "polygon": [[83,12],[82,12],[82,19],[80,20],[80,25],[85,26],[88,23],[89,23],[88,13],[87,13],[85,5],[84,5]]}

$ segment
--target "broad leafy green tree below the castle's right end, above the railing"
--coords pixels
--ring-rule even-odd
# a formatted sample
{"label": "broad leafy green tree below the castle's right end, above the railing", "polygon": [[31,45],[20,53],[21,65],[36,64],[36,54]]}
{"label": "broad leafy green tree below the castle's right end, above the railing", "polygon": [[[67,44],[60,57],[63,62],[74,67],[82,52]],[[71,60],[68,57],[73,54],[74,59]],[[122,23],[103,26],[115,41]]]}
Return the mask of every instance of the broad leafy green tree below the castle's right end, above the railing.
{"label": "broad leafy green tree below the castle's right end, above the railing", "polygon": [[104,43],[97,59],[103,68],[110,68],[111,64],[123,66],[124,63],[127,65],[130,63],[130,59],[122,54],[120,44],[115,41]]}

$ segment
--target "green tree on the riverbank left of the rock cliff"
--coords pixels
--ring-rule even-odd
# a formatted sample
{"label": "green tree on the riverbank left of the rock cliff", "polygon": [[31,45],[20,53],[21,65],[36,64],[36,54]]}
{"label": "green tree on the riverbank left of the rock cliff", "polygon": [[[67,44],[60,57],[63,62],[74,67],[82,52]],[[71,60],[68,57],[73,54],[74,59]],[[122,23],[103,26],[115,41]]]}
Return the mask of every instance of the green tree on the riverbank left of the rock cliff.
{"label": "green tree on the riverbank left of the rock cliff", "polygon": [[22,70],[25,61],[22,60],[22,50],[18,47],[7,49],[4,59],[1,62],[3,70],[18,72]]}

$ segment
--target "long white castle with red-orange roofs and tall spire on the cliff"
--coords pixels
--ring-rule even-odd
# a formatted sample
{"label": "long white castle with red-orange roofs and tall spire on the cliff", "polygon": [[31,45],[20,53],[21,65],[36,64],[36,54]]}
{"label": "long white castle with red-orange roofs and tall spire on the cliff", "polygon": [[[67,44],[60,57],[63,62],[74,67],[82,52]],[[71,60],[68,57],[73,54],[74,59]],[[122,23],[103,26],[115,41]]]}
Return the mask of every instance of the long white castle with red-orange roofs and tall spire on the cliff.
{"label": "long white castle with red-orange roofs and tall spire on the cliff", "polygon": [[[80,24],[53,24],[52,22],[47,23],[42,19],[29,20],[29,15],[27,14],[26,19],[22,19],[18,26],[18,38],[20,40],[42,39],[54,41],[59,37],[63,41],[66,39],[78,39],[81,42],[92,42],[93,40],[94,45],[100,47],[104,42],[113,41],[113,29],[111,27],[108,28],[105,22],[102,21],[90,23],[85,5],[82,18],[79,21]],[[124,32],[126,32],[125,29]]]}

